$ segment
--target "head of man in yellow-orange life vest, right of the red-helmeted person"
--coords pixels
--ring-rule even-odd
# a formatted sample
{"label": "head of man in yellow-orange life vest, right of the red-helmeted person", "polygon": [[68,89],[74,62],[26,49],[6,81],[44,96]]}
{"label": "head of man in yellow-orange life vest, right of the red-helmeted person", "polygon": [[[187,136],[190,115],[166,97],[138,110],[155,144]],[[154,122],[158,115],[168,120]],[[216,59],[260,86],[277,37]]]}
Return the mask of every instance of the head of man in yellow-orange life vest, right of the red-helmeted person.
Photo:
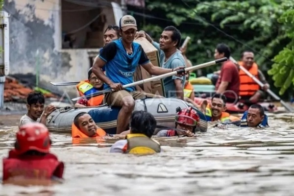
{"label": "head of man in yellow-orange life vest, right of the red-helmeted person", "polygon": [[221,94],[214,94],[211,98],[211,112],[213,117],[220,117],[221,113],[226,110],[226,97]]}

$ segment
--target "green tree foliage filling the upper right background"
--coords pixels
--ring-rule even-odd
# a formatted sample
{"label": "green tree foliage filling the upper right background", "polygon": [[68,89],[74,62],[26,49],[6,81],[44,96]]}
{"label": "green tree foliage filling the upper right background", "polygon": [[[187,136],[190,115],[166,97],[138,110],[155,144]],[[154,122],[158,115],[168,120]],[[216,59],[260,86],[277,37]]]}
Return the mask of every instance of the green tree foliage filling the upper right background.
{"label": "green tree foliage filling the upper right background", "polygon": [[[280,64],[290,64],[291,59],[293,66],[293,0],[146,0],[146,3],[147,8],[144,10],[130,8],[144,12],[143,17],[135,16],[141,29],[158,40],[165,26],[176,26],[180,29],[183,40],[186,36],[192,38],[187,56],[194,65],[211,61],[216,45],[225,43],[231,48],[236,60],[240,59],[244,50],[252,50],[255,61],[264,73],[271,66],[276,71]],[[288,59],[287,62],[285,59]],[[217,69],[219,66],[212,66],[202,71],[205,75]],[[283,70],[287,74],[292,71],[290,68]],[[286,78],[282,76],[284,71],[279,74],[275,71],[269,71],[269,74],[273,74],[275,86],[282,87],[282,94],[289,84],[286,81],[279,83],[280,77]],[[266,77],[272,84],[273,81],[267,74]]]}

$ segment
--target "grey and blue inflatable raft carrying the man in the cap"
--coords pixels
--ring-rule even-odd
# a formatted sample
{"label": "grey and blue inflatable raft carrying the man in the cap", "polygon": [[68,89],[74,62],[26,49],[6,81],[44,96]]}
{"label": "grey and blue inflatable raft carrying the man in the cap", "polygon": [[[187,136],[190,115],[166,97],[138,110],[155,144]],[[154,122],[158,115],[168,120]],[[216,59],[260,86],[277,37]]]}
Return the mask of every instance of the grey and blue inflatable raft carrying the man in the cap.
{"label": "grey and blue inflatable raft carrying the man in the cap", "polygon": [[[192,105],[178,98],[146,98],[137,99],[134,110],[145,110],[151,113],[155,117],[157,125],[174,127],[176,109],[189,106]],[[196,131],[206,132],[208,125],[205,115],[197,108],[193,108],[196,109],[200,117],[200,125]],[[86,108],[61,108],[49,115],[46,126],[51,132],[71,133],[74,117],[81,112],[86,112],[90,114],[99,127],[107,133],[115,134],[119,111],[120,107],[108,105]]]}

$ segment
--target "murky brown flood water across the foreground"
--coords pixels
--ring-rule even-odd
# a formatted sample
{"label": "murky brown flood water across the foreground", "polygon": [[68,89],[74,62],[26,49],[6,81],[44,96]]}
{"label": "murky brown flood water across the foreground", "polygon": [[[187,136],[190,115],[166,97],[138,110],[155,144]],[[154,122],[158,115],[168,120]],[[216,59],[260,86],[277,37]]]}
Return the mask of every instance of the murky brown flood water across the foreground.
{"label": "murky brown flood water across the foreground", "polygon": [[[294,114],[269,119],[265,130],[209,128],[197,138],[161,138],[164,152],[149,156],[110,154],[114,140],[75,146],[70,134],[53,133],[65,182],[0,185],[0,196],[293,196]],[[16,130],[1,128],[1,159]]]}

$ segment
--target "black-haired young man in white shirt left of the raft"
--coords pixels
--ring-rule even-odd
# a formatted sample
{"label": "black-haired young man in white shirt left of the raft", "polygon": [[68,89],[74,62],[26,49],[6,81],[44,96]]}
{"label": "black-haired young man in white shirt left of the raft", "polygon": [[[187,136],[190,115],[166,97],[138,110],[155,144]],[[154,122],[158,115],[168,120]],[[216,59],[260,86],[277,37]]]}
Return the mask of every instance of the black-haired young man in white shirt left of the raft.
{"label": "black-haired young man in white shirt left of the raft", "polygon": [[27,123],[46,123],[46,119],[54,110],[54,105],[48,105],[44,109],[45,98],[39,92],[31,92],[26,98],[27,113],[21,117],[19,128]]}

